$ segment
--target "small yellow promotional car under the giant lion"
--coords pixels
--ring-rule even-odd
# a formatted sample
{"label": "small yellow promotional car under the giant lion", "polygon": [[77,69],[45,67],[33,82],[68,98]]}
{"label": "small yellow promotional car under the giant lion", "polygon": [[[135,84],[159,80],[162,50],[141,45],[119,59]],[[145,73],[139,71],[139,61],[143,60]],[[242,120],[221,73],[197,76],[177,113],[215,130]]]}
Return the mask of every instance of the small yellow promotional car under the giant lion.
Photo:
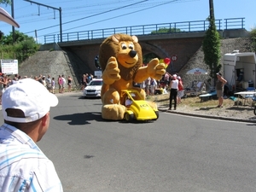
{"label": "small yellow promotional car under the giant lion", "polygon": [[[121,90],[121,97],[125,97],[125,120],[156,120],[159,118],[159,111],[155,105],[152,107],[137,90]],[[139,98],[134,99],[133,97]],[[130,101],[128,101],[130,100]]]}

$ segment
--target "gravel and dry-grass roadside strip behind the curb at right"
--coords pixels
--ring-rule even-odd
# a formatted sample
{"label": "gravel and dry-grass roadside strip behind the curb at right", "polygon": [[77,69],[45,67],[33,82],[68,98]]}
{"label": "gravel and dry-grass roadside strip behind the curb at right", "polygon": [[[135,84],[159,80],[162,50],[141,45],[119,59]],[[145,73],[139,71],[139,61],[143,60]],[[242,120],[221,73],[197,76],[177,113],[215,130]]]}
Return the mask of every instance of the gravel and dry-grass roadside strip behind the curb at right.
{"label": "gravel and dry-grass roadside strip behind the curb at right", "polygon": [[155,96],[154,102],[158,104],[160,111],[169,113],[256,123],[256,115],[253,113],[254,107],[252,107],[252,101],[246,102],[245,105],[237,106],[233,100],[226,98],[224,99],[223,108],[216,108],[218,105],[217,99],[201,102],[200,98],[195,96],[182,99],[182,103],[177,105],[177,110],[168,110],[169,94],[166,94],[166,96]]}

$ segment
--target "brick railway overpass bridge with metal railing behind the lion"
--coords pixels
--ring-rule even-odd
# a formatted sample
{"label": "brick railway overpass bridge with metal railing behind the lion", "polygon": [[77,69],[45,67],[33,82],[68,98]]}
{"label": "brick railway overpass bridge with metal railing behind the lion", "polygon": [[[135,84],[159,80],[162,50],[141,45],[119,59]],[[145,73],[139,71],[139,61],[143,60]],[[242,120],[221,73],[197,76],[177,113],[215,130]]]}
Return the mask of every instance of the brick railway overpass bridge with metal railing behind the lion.
{"label": "brick railway overpass bridge with metal railing behind the lion", "polygon": [[[247,37],[244,28],[245,18],[215,20],[217,30],[222,38]],[[94,31],[70,32],[44,37],[40,50],[61,49],[67,56],[76,57],[76,70],[73,76],[81,77],[83,73],[94,73],[99,46],[102,41],[114,33],[136,35],[143,49],[143,55],[154,54],[159,58],[176,58],[167,68],[169,73],[179,72],[195,52],[201,48],[207,31],[207,20],[178,23],[154,24],[147,26],[125,26]],[[172,29],[171,32],[160,32],[161,29]],[[61,39],[61,41],[60,41]],[[72,62],[72,60],[70,60]]]}

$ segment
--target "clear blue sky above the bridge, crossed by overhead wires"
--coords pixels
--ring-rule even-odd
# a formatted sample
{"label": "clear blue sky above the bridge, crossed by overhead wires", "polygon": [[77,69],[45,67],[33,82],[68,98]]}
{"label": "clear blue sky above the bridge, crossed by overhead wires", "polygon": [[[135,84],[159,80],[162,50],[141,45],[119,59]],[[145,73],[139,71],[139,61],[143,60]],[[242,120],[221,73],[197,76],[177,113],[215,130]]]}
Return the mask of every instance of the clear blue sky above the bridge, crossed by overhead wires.
{"label": "clear blue sky above the bridge, crossed by overhead wires", "polygon": [[[32,0],[62,9],[62,32],[79,32],[119,26],[141,26],[180,21],[206,20],[208,0]],[[256,28],[256,0],[213,0],[215,19],[245,18],[248,31]],[[58,10],[24,0],[14,0],[16,30],[44,43],[44,35],[60,33]],[[1,5],[11,15],[11,7]],[[54,27],[52,27],[54,26]],[[3,22],[0,30],[9,34],[12,27]]]}

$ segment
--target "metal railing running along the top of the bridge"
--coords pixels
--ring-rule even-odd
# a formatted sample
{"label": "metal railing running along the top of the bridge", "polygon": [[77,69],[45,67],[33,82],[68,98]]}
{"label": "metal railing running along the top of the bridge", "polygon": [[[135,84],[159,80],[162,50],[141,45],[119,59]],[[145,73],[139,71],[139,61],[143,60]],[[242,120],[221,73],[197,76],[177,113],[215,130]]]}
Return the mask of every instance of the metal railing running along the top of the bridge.
{"label": "metal railing running along the top of the bridge", "polygon": [[[245,18],[230,18],[223,20],[215,20],[215,25],[218,31],[228,29],[244,29]],[[162,24],[152,24],[144,26],[123,26],[107,29],[98,29],[82,32],[62,33],[62,42],[91,40],[97,38],[108,38],[116,33],[125,33],[128,35],[154,35],[154,34],[169,34],[169,33],[184,33],[184,32],[206,32],[209,26],[209,20],[195,20],[172,22]],[[44,36],[44,44],[57,43],[61,40],[60,34]]]}

